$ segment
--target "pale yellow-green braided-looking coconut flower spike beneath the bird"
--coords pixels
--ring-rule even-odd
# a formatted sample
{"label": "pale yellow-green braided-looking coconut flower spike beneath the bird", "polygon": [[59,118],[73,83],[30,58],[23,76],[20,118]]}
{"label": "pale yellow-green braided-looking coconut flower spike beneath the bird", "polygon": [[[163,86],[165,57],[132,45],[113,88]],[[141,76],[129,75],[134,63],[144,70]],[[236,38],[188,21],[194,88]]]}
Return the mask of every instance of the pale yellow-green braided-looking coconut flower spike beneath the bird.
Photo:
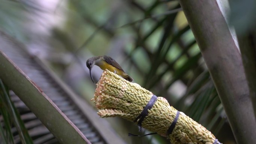
{"label": "pale yellow-green braided-looking coconut flower spike beneath the bird", "polygon": [[[137,83],[128,82],[106,70],[97,83],[92,101],[100,117],[118,116],[131,122],[136,120],[135,123],[138,124],[140,119],[137,117],[152,96],[152,92]],[[167,137],[171,144],[220,144],[210,131],[184,113],[178,112],[163,97],[157,97],[147,112],[141,126]]]}

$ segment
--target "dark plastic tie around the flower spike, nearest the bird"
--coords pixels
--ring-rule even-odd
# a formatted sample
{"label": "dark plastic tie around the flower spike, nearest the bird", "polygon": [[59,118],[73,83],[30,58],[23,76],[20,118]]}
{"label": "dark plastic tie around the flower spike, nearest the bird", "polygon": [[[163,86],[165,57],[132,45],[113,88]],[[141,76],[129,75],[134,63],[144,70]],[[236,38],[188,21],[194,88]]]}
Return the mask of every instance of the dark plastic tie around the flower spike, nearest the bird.
{"label": "dark plastic tie around the flower spike, nearest the bird", "polygon": [[138,117],[133,121],[133,122],[137,122],[137,120],[140,119],[138,121],[138,126],[140,126],[139,132],[141,131],[141,123],[143,122],[143,120],[147,116],[147,114],[149,114],[149,112],[147,110],[149,110],[153,107],[153,105],[156,102],[156,99],[157,99],[157,96],[153,95],[151,97],[151,99],[149,100],[149,103],[147,103],[146,107],[143,108],[143,111],[140,113],[140,115],[138,115]]}

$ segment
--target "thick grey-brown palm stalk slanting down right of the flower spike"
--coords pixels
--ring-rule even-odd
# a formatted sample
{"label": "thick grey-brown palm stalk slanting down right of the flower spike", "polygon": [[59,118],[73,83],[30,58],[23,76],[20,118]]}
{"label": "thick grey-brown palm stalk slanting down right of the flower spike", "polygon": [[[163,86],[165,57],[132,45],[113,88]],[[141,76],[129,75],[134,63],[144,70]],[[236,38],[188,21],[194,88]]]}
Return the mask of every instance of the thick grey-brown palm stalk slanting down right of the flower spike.
{"label": "thick grey-brown palm stalk slanting down right of the flower spike", "polygon": [[238,144],[256,143],[241,54],[216,0],[180,0]]}

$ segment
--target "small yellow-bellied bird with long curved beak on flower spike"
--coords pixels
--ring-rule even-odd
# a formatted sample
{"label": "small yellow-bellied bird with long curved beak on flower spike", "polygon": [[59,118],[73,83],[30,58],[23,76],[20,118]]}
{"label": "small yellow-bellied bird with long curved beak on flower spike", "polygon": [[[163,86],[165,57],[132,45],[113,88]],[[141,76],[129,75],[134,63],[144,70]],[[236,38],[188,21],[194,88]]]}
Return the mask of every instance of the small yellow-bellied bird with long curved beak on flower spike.
{"label": "small yellow-bellied bird with long curved beak on flower spike", "polygon": [[[111,58],[110,56],[95,56],[89,58],[86,61],[86,66],[89,68],[91,79],[91,69],[94,65],[98,65],[102,70],[107,69],[109,71],[112,71],[113,73],[118,74],[119,76],[123,77],[125,80],[128,80],[129,82],[133,81],[133,79],[124,72],[122,67],[115,61],[115,59]],[[92,82],[94,83],[93,79]]]}

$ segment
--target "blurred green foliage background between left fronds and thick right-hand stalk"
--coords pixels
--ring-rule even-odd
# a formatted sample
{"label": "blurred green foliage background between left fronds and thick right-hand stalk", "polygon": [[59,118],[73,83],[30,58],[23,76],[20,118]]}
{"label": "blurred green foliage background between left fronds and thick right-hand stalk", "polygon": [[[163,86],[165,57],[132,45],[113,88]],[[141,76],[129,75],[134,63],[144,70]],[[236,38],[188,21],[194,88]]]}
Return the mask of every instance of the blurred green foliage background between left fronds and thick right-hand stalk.
{"label": "blurred green foliage background between left fronds and thick right-hand stalk", "polygon": [[[22,42],[88,101],[95,84],[85,62],[114,58],[135,83],[235,144],[210,74],[176,0],[0,0],[0,30]],[[94,66],[98,80],[103,71]],[[128,137],[138,127],[108,118],[128,144],[167,144],[159,135]],[[147,133],[147,131],[143,131]]]}

